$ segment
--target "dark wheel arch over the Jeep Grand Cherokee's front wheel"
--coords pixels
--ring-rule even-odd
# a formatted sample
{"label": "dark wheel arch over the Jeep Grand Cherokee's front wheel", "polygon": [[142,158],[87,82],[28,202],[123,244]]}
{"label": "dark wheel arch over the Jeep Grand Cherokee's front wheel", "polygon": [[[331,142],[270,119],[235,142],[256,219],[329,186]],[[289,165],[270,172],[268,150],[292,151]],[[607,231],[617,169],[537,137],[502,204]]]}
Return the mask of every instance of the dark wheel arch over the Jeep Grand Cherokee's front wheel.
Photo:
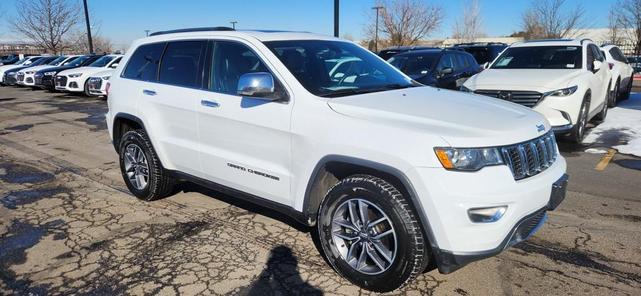
{"label": "dark wheel arch over the Jeep Grand Cherokee's front wheel", "polygon": [[436,255],[440,251],[429,219],[425,215],[423,205],[409,178],[392,166],[371,160],[343,155],[328,155],[318,161],[309,177],[303,200],[303,214],[307,217],[308,224],[316,224],[318,211],[327,191],[338,180],[354,174],[379,177],[390,182],[403,195],[409,197],[410,204],[416,211],[421,226],[423,226],[423,234],[429,241],[432,254]]}

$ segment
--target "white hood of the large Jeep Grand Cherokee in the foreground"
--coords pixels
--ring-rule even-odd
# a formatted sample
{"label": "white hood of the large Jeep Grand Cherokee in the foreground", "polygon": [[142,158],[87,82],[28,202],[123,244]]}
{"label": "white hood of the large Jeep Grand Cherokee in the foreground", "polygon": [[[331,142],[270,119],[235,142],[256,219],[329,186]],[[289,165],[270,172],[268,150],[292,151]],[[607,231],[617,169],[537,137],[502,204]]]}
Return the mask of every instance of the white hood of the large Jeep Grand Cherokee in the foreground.
{"label": "white hood of the large Jeep Grand Cherokee in the foreground", "polygon": [[328,104],[345,116],[440,136],[453,147],[509,145],[550,129],[542,115],[521,105],[432,87],[340,97]]}

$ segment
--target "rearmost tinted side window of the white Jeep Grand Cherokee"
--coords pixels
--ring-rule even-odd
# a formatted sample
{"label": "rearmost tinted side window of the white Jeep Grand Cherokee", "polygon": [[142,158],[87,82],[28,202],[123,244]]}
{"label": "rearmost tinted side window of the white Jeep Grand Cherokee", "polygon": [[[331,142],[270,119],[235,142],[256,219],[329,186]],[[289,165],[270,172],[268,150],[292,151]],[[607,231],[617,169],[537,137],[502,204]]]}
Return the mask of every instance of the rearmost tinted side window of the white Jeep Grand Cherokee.
{"label": "rearmost tinted side window of the white Jeep Grand Cherokee", "polygon": [[122,77],[144,81],[156,81],[160,56],[165,43],[146,44],[138,47],[127,63]]}

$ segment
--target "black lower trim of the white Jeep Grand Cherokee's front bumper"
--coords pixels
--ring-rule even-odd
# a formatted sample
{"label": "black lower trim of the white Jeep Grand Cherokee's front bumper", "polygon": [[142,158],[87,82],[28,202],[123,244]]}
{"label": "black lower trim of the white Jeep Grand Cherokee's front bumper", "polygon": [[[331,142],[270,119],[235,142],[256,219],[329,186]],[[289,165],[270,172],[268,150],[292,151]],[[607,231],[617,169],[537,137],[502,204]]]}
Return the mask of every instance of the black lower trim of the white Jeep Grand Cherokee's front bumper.
{"label": "black lower trim of the white Jeep Grand Cherokee's front bumper", "polygon": [[512,247],[534,235],[547,220],[547,211],[553,211],[565,199],[565,192],[568,183],[568,175],[564,174],[559,180],[552,184],[550,200],[545,207],[523,217],[510,230],[501,244],[492,249],[469,254],[455,254],[449,251],[438,250],[434,257],[437,261],[439,272],[451,273],[471,262],[498,255],[503,250]]}

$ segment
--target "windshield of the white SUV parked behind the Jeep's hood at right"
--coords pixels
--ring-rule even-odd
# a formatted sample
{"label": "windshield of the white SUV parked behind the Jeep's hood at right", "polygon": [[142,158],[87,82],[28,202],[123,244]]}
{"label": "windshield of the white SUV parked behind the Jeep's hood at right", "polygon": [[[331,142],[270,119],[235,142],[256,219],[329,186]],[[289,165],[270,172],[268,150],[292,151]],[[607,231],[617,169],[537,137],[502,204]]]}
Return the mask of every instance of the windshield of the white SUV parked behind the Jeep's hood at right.
{"label": "windshield of the white SUV parked behind the Jeep's hood at right", "polygon": [[581,69],[580,46],[510,47],[492,69]]}

